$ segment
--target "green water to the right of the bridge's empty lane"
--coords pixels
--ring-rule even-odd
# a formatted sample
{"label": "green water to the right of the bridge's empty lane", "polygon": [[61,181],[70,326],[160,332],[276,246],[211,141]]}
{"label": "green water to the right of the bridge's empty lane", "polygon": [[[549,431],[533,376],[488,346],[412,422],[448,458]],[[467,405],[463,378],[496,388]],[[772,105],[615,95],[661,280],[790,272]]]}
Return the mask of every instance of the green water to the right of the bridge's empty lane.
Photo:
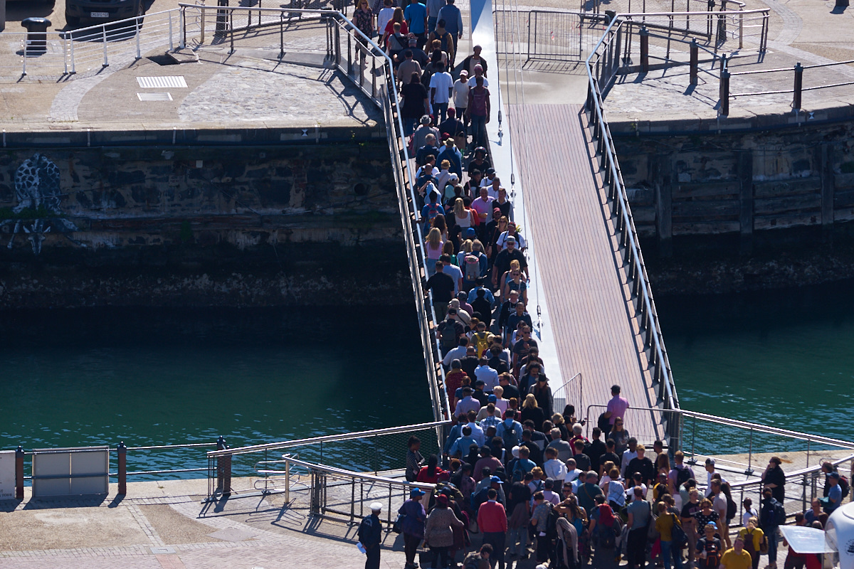
{"label": "green water to the right of the bridge's empty lane", "polygon": [[837,282],[656,299],[681,407],[854,438],[852,292]]}

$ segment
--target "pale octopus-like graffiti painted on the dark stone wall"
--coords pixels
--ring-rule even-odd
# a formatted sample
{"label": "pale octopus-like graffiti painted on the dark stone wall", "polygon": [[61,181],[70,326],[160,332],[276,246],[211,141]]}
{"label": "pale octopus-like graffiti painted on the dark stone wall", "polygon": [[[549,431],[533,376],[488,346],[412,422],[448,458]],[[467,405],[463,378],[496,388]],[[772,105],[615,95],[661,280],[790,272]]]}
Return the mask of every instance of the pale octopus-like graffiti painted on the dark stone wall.
{"label": "pale octopus-like graffiti painted on the dark stone wall", "polygon": [[9,249],[15,243],[15,235],[26,235],[32,253],[42,252],[42,242],[50,232],[67,234],[77,226],[62,215],[60,170],[44,154],[33,154],[21,162],[15,171],[15,198],[18,204],[12,215],[0,222],[0,229],[11,233]]}

